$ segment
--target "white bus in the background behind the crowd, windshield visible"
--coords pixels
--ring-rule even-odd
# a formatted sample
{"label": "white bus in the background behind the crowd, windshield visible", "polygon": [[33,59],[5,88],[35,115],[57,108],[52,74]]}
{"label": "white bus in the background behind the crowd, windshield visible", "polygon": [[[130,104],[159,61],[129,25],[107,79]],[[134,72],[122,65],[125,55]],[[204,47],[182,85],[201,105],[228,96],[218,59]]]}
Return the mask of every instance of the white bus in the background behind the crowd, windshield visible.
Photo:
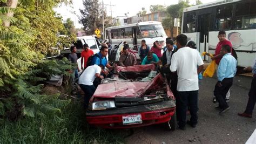
{"label": "white bus in the background behind the crowd, windshield visible", "polygon": [[164,47],[165,39],[167,38],[164,28],[160,22],[139,22],[112,26],[105,30],[106,39],[109,40],[112,46],[117,45],[122,41],[126,42],[130,46],[140,45],[140,42],[144,39],[150,48],[156,40],[158,40],[162,47]]}

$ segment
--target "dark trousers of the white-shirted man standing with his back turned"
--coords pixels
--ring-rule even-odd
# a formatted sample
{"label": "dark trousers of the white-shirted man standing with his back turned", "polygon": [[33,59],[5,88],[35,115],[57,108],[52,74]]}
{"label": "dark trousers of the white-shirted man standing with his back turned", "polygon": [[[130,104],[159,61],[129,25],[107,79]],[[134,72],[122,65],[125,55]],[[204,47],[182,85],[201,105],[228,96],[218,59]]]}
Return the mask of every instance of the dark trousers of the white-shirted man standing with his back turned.
{"label": "dark trousers of the white-shirted man standing with his back turned", "polygon": [[198,91],[178,92],[177,101],[180,102],[180,108],[177,109],[177,114],[180,115],[180,118],[178,118],[179,127],[186,125],[187,106],[190,107],[191,124],[196,125],[198,120]]}

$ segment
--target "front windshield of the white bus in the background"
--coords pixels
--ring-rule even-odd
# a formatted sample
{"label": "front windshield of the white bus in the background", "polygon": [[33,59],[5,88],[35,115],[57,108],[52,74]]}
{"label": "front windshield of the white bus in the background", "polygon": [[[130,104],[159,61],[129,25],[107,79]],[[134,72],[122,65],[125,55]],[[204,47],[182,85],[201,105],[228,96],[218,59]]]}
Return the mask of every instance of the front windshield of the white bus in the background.
{"label": "front windshield of the white bus in the background", "polygon": [[161,24],[140,25],[143,38],[165,37],[166,33]]}

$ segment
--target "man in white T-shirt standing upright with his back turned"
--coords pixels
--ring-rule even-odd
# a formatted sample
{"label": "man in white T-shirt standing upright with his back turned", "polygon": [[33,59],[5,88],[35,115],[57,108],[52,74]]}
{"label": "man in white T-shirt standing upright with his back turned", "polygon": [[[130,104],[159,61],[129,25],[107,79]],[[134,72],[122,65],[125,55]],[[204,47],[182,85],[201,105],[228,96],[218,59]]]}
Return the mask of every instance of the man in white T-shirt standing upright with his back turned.
{"label": "man in white T-shirt standing upright with his back turned", "polygon": [[[187,123],[196,127],[198,109],[198,74],[203,70],[203,60],[197,50],[186,47],[187,36],[177,36],[178,51],[173,54],[171,59],[171,72],[178,74],[178,97],[176,97],[177,114],[180,115],[179,128],[185,130],[187,106],[190,106],[191,119]],[[198,68],[197,68],[198,65]]]}

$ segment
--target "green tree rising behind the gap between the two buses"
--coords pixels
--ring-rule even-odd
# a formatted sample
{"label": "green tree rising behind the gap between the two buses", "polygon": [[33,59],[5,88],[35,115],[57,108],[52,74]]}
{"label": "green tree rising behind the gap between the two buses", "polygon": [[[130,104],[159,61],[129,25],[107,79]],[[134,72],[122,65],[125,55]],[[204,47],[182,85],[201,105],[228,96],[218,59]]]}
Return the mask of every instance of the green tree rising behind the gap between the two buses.
{"label": "green tree rising behind the gap between the two buses", "polygon": [[[183,9],[187,8],[188,5],[186,2],[180,2],[178,4],[170,5],[166,9],[167,16],[163,20],[164,28],[170,29],[171,37],[173,37],[173,28],[174,28],[174,18],[179,18],[180,24],[182,23]],[[180,27],[179,27],[180,31]]]}

